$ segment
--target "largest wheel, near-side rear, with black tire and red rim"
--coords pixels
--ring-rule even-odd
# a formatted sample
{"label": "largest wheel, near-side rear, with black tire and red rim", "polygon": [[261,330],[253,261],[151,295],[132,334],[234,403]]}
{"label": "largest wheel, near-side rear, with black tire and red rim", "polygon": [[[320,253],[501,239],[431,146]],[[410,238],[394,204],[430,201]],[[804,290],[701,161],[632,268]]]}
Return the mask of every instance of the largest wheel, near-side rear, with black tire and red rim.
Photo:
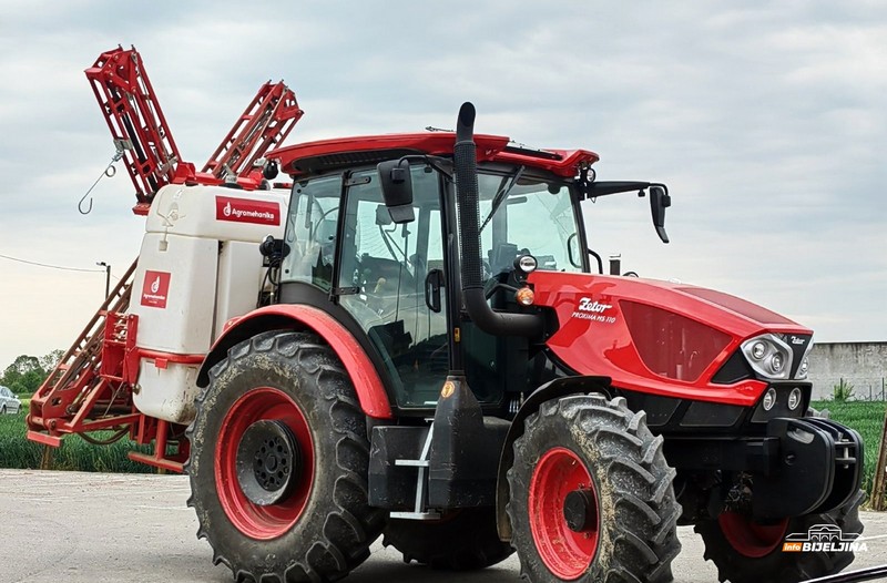
{"label": "largest wheel, near-side rear, with black tire and red rim", "polygon": [[369,556],[369,443],[354,387],[317,337],[265,333],[210,374],[188,428],[188,504],[239,581],[327,582]]}

